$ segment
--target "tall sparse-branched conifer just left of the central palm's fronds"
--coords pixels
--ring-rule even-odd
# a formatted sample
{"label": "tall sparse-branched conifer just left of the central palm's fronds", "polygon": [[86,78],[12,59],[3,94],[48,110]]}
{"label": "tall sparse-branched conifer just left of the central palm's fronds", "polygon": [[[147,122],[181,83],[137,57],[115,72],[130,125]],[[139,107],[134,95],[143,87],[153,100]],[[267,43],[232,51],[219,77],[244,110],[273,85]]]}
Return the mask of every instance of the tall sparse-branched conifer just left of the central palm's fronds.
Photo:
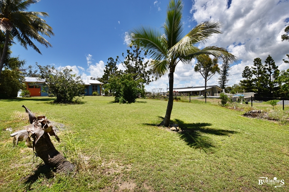
{"label": "tall sparse-branched conifer just left of the central palm's fronds", "polygon": [[144,50],[137,45],[130,46],[132,52],[127,50],[127,56],[122,54],[124,61],[122,62],[120,58],[117,56],[116,61],[121,63],[125,68],[125,73],[130,73],[132,78],[135,81],[140,80],[142,84],[149,84],[153,81],[153,77],[151,77],[153,71],[149,68],[149,60],[144,61],[148,50]]}

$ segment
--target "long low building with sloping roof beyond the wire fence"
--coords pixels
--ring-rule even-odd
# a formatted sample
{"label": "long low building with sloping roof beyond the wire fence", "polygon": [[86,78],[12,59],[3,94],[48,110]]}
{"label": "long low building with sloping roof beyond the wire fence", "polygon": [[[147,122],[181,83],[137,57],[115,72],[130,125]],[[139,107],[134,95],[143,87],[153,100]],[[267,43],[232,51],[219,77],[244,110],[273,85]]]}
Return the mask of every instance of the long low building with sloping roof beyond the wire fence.
{"label": "long low building with sloping roof beyond the wire fence", "polygon": [[[205,95],[205,86],[174,88],[173,90],[179,93],[190,93],[191,95]],[[207,86],[207,94],[210,96],[220,94],[221,92],[223,92],[223,90],[218,85]]]}

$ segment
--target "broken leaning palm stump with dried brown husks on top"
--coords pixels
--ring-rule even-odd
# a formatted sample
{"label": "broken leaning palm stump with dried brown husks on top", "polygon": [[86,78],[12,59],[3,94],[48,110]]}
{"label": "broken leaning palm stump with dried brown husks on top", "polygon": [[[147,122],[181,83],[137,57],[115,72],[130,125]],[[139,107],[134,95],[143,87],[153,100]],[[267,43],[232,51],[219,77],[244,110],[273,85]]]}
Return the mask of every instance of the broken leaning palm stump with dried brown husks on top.
{"label": "broken leaning palm stump with dried brown husks on top", "polygon": [[[45,116],[35,117],[28,108],[24,105],[22,107],[24,107],[26,113],[29,114],[31,125],[26,130],[21,130],[10,135],[14,136],[14,145],[17,145],[18,140],[24,139],[26,140],[25,144],[28,147],[33,147],[37,156],[56,172],[72,172],[74,166],[55,149],[50,140],[50,136],[55,136],[59,142],[59,138],[51,122]],[[33,138],[32,145],[30,137],[28,136],[29,134],[31,134],[30,137]]]}

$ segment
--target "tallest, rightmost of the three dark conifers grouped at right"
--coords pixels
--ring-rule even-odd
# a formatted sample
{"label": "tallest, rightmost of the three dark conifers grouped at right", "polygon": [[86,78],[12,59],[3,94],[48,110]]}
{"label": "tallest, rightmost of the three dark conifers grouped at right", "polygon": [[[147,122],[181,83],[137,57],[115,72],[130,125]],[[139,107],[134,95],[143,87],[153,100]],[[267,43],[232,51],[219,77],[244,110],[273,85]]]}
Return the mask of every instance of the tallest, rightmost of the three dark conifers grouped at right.
{"label": "tallest, rightmost of the three dark conifers grouped at right", "polygon": [[274,93],[276,93],[278,89],[278,87],[276,86],[277,82],[275,81],[275,79],[277,79],[277,77],[279,76],[280,71],[278,69],[278,66],[275,65],[275,62],[270,55],[268,55],[268,57],[265,60],[265,66],[268,75],[268,89],[269,89],[268,96],[273,97]]}

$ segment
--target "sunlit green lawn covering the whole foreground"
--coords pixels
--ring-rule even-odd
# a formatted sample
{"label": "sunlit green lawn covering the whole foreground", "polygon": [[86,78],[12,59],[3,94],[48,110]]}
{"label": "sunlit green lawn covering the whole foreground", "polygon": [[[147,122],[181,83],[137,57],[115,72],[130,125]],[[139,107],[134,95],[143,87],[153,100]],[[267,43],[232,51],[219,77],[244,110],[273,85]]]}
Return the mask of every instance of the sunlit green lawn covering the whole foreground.
{"label": "sunlit green lawn covering the whole foreground", "polygon": [[[288,190],[288,126],[191,100],[174,102],[172,123],[186,130],[176,133],[155,126],[165,115],[167,101],[118,104],[111,102],[113,97],[87,96],[83,104],[65,105],[52,100],[0,100],[0,191]],[[66,130],[58,133],[61,142],[51,139],[66,155],[69,146],[75,146],[71,148],[77,151],[68,158],[83,156],[84,169],[68,176],[54,174],[24,142],[12,147],[10,132],[2,130],[27,125],[23,104],[65,124]],[[285,187],[258,185],[258,177],[284,179]]]}

